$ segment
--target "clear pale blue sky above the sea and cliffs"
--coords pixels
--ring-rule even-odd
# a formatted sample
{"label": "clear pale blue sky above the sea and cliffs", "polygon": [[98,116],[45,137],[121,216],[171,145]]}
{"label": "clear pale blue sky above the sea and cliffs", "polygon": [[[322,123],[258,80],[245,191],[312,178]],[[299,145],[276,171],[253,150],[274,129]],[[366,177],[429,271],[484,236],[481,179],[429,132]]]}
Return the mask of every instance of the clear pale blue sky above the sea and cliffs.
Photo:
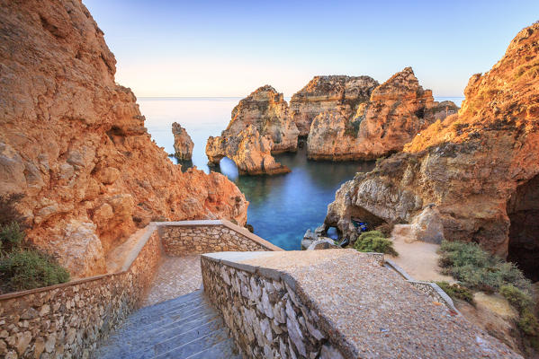
{"label": "clear pale blue sky above the sea and cliffs", "polygon": [[137,96],[292,96],[314,75],[412,66],[435,96],[463,96],[472,74],[539,20],[537,0],[83,0]]}

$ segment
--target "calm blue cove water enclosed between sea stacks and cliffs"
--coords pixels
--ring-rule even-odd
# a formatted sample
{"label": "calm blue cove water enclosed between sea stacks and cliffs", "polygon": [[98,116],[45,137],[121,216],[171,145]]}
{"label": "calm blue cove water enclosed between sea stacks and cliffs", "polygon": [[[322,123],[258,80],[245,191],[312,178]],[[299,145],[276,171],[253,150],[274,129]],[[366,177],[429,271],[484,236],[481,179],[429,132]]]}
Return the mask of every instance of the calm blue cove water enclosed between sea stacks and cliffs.
{"label": "calm blue cove water enclosed between sea stacks and cliffs", "polygon": [[337,188],[357,171],[371,171],[374,167],[374,162],[310,161],[304,148],[275,157],[292,172],[238,176],[234,162],[228,158],[221,160],[218,169],[238,185],[250,202],[247,216],[255,233],[285,250],[300,250],[304,232],[324,221]]}

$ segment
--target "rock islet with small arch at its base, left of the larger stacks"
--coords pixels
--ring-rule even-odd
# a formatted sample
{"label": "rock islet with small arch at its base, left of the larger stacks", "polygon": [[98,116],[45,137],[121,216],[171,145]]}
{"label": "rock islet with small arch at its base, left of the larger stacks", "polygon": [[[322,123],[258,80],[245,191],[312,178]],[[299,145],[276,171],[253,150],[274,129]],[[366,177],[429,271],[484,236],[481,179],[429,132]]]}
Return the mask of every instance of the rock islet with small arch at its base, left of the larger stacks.
{"label": "rock islet with small arch at its base, left of the larger stacks", "polygon": [[271,153],[296,151],[298,134],[283,93],[265,85],[239,101],[229,127],[208,139],[206,155],[214,164],[229,157],[243,174],[283,173],[290,170],[275,162]]}

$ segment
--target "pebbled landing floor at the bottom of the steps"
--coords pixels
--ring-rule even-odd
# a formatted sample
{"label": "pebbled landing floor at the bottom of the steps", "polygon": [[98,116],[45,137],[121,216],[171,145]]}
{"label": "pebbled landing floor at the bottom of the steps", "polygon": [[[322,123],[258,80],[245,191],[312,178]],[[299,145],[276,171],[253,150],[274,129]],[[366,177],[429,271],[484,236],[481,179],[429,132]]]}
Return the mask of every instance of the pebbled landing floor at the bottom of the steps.
{"label": "pebbled landing floor at the bottom of the steps", "polygon": [[156,278],[143,306],[192,293],[202,286],[201,256],[162,258]]}

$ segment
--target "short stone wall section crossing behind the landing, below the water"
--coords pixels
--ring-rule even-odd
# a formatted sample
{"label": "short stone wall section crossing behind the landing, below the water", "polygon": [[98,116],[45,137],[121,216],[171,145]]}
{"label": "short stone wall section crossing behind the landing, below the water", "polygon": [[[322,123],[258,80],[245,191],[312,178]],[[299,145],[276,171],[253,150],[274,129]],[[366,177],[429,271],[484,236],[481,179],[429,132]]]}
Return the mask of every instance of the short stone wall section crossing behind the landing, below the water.
{"label": "short stone wall section crossing behind the landing, below the water", "polygon": [[[201,223],[204,225],[201,225]],[[157,223],[166,254],[202,254],[220,251],[282,250],[247,229],[228,221]]]}

